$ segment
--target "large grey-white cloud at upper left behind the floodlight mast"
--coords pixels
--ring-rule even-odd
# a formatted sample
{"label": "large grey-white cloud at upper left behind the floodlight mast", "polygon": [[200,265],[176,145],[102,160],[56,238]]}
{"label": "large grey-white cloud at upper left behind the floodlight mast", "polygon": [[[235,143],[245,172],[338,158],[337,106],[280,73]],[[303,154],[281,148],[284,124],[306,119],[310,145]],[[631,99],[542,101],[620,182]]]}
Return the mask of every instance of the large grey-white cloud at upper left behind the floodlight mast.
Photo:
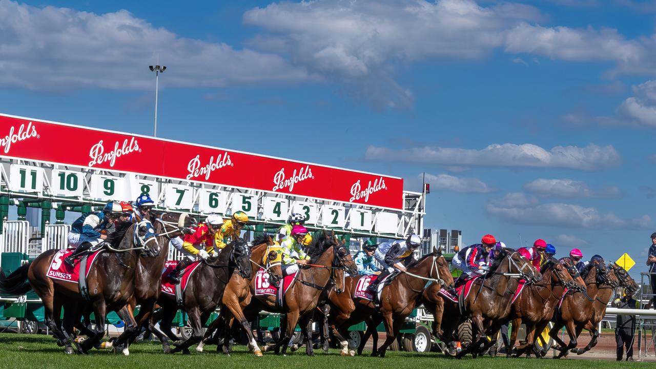
{"label": "large grey-white cloud at upper left behind the floodlight mast", "polygon": [[128,11],[106,14],[0,0],[0,85],[35,91],[152,89],[149,64],[168,67],[167,87],[304,81],[285,58],[180,37]]}

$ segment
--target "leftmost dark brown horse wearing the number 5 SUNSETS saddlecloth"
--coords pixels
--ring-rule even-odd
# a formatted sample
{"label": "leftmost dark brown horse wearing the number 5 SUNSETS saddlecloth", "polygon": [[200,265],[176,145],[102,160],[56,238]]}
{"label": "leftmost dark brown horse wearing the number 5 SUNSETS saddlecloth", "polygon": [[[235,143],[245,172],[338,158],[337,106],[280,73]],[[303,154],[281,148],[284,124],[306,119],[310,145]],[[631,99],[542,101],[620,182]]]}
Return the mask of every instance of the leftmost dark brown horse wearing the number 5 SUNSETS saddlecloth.
{"label": "leftmost dark brown horse wearing the number 5 SUNSETS saddlecloth", "polygon": [[[66,353],[74,353],[68,332],[72,332],[75,320],[79,319],[80,307],[91,305],[96,320],[94,334],[75,344],[78,353],[87,353],[104,336],[108,311],[121,311],[133,296],[134,269],[138,257],[156,257],[161,250],[154,234],[148,232],[148,227],[136,227],[129,222],[118,225],[116,231],[108,235],[105,245],[106,250],[96,257],[87,276],[89,301],[85,301],[77,283],[47,276],[52,259],[59,250],[44,251],[1,283],[1,289],[7,293],[22,295],[31,288],[41,297],[45,322],[58,340],[64,343]],[[64,325],[60,329],[62,306]],[[125,321],[126,330],[136,329],[133,316],[123,314],[121,318]],[[125,351],[124,354],[128,355],[129,352]]]}

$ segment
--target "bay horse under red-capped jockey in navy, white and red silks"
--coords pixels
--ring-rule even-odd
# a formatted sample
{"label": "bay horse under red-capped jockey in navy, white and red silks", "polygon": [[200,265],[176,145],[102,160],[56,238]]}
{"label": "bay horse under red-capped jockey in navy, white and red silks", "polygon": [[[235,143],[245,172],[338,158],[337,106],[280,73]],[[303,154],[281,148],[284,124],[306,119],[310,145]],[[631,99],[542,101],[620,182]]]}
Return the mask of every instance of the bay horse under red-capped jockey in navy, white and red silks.
{"label": "bay horse under red-capped jockey in navy, white and red silks", "polygon": [[491,270],[472,282],[470,293],[464,299],[465,313],[461,319],[470,318],[476,334],[472,344],[463,347],[458,357],[470,352],[476,354],[479,349],[485,352],[493,345],[494,340],[488,340],[487,336],[496,336],[510,315],[510,300],[519,280],[537,282],[541,279],[539,274],[517,251],[510,248],[500,251]]}

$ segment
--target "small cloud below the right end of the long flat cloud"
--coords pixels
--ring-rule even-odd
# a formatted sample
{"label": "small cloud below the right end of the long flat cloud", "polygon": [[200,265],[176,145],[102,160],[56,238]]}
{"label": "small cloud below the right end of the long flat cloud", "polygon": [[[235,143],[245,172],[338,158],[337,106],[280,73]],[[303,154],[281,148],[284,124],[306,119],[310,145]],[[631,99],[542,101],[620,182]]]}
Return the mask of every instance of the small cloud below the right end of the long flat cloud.
{"label": "small cloud below the right end of the long flat cloud", "polygon": [[543,179],[526,183],[523,186],[526,192],[541,197],[555,198],[609,198],[619,196],[619,188],[608,186],[600,190],[591,190],[583,181],[571,179]]}

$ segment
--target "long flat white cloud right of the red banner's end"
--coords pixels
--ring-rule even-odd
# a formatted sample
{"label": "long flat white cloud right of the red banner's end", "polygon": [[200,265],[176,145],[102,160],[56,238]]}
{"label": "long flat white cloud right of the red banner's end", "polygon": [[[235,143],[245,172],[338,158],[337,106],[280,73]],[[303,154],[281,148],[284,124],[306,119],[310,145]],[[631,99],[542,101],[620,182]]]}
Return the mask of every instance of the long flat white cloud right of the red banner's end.
{"label": "long flat white cloud right of the red banner's end", "polygon": [[620,157],[611,145],[556,146],[545,150],[534,144],[491,144],[482,150],[424,146],[392,149],[369,146],[365,160],[431,163],[449,166],[560,167],[596,171],[612,167]]}

